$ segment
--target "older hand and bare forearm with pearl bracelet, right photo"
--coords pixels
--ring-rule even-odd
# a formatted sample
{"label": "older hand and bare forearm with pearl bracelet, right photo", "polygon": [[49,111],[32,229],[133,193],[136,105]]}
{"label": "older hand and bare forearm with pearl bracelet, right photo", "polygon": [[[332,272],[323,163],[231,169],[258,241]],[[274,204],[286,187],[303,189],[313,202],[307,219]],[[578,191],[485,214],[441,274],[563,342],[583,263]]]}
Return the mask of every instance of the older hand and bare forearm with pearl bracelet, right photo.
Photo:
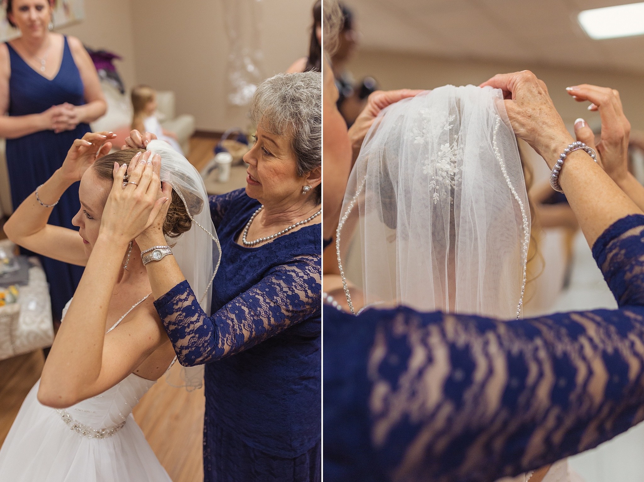
{"label": "older hand and bare forearm with pearl bracelet, right photo", "polygon": [[[549,168],[553,168],[560,153],[574,139],[554,108],[544,82],[524,70],[495,75],[481,86],[503,91],[507,116],[515,134],[526,140]],[[574,151],[566,157],[559,182],[589,246],[620,218],[642,213],[584,151]]]}

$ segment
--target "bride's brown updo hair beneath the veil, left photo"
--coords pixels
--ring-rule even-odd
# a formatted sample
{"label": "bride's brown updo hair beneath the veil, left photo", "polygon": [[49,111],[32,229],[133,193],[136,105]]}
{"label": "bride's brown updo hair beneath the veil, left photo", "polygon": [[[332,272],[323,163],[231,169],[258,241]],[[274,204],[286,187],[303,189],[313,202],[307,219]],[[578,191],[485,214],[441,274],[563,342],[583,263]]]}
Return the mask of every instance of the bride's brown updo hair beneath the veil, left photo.
{"label": "bride's brown updo hair beneath the veil, left photo", "polygon": [[[94,162],[92,168],[96,171],[100,178],[113,181],[114,175],[114,163],[118,162],[119,165],[128,164],[132,158],[137,154],[137,152],[145,152],[145,149],[124,149],[122,151],[116,151],[111,154],[100,157]],[[108,193],[106,193],[105,198],[107,200]],[[190,212],[195,215],[200,213],[202,210],[202,202],[197,197],[186,198],[185,202],[188,203]],[[188,216],[188,213],[185,211],[185,205],[176,191],[172,191],[172,199],[170,202],[170,207],[167,210],[166,221],[163,224],[164,235],[169,238],[176,238],[176,236],[181,235],[190,230],[193,223]]]}

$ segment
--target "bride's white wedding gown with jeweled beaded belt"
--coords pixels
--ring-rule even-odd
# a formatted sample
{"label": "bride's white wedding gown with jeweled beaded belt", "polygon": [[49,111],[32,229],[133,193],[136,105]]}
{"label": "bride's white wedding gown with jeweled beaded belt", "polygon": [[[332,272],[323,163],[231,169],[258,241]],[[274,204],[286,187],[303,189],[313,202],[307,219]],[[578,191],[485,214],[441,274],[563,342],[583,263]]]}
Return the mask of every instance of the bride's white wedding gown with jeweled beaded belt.
{"label": "bride's white wedding gown with jeweled beaded belt", "polygon": [[155,383],[130,374],[57,410],[38,401],[37,381],[0,448],[0,481],[171,482],[132,416]]}

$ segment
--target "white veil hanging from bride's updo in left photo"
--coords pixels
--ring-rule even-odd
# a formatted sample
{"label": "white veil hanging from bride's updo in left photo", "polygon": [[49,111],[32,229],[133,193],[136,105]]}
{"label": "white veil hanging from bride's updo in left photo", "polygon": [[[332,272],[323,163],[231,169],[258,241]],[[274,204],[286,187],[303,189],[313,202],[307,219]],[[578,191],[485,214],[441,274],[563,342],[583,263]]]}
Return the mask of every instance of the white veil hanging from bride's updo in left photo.
{"label": "white veil hanging from bride's updo in left photo", "polygon": [[[186,233],[167,238],[176,262],[188,284],[194,291],[199,304],[210,314],[213,294],[213,279],[219,267],[222,248],[210,215],[208,195],[204,180],[184,156],[162,140],[152,140],[147,150],[161,156],[160,178],[171,184],[173,190],[184,202],[192,221]],[[175,387],[200,388],[203,384],[204,367],[182,367],[180,379],[169,376],[167,382]]]}

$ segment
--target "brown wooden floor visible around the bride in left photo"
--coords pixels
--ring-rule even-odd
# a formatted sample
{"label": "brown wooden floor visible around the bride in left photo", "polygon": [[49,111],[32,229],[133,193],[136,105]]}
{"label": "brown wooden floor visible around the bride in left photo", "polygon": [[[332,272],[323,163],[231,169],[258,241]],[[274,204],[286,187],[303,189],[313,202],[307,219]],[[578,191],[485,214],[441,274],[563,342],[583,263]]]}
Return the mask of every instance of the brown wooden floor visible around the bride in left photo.
{"label": "brown wooden floor visible around the bride in left photo", "polygon": [[[193,138],[189,161],[201,169],[213,157],[218,139]],[[0,239],[4,238],[0,220]],[[43,351],[0,361],[0,445],[43,370]],[[175,363],[172,370],[179,370]],[[204,389],[187,392],[161,378],[134,409],[134,417],[174,482],[201,482]],[[62,423],[62,422],[61,422]]]}

